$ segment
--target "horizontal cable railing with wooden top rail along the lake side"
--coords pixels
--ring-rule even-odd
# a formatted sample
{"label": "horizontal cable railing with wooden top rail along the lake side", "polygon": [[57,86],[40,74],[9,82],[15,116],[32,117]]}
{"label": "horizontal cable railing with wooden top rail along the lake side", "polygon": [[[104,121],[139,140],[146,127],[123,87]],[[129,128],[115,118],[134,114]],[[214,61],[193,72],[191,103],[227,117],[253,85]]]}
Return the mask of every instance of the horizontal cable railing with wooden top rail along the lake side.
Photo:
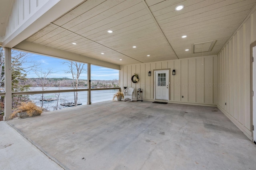
{"label": "horizontal cable railing with wooden top rail along the lake side", "polygon": [[[112,100],[113,95],[120,88],[92,88],[91,102],[103,102]],[[56,109],[64,109],[74,106],[74,92],[78,92],[78,106],[87,104],[87,91],[89,89],[70,89],[70,90],[44,90],[44,91],[28,91],[28,92],[12,92],[13,106],[18,102],[32,101],[37,106],[43,107],[45,111],[53,111]],[[4,94],[4,93],[2,93]],[[0,93],[0,95],[2,95]],[[43,97],[42,97],[42,94]],[[4,95],[2,95],[4,96]],[[27,96],[26,98],[20,96]]]}

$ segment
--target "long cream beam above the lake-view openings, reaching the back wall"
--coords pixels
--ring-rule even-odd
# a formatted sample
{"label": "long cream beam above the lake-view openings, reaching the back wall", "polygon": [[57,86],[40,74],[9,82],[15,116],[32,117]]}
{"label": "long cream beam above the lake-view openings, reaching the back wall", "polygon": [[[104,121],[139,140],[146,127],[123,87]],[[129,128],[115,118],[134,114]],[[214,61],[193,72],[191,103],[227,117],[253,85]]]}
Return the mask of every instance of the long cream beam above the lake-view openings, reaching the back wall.
{"label": "long cream beam above the lake-view openings, reaching the back wall", "polygon": [[93,64],[93,65],[97,65],[97,66],[103,66],[103,67],[107,67],[107,68],[113,68],[116,70],[120,70],[120,65],[117,65],[117,64],[108,63],[108,62],[93,59],[90,57],[62,51],[59,49],[54,49],[52,47],[47,47],[44,45],[38,45],[35,43],[31,43],[29,41],[22,41],[18,45],[14,46],[13,49],[25,51],[28,53],[35,53],[35,54],[39,54],[39,55],[56,57],[59,59],[65,59],[65,60],[69,60],[69,61],[77,61],[80,63]]}

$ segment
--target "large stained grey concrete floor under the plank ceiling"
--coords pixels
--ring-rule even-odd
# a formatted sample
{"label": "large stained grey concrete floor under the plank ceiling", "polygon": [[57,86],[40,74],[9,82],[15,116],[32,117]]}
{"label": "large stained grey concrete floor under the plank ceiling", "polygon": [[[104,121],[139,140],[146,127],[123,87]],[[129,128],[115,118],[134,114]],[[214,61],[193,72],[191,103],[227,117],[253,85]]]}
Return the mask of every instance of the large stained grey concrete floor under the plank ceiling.
{"label": "large stained grey concrete floor under the plank ceiling", "polygon": [[216,107],[108,101],[7,122],[64,169],[256,169],[256,145]]}

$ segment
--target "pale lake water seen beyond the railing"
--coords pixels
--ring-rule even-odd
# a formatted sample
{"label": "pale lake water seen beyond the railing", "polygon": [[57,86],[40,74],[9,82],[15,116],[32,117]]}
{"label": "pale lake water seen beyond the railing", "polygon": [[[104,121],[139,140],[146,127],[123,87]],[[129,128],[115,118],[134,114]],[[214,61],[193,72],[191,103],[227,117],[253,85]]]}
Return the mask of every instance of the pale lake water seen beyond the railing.
{"label": "pale lake water seen beyond the railing", "polygon": [[[59,89],[58,87],[50,87],[50,88],[47,88],[46,91],[47,90],[70,90],[70,89],[73,89],[73,88],[72,87],[63,87],[63,88]],[[40,91],[40,90],[42,90],[42,87],[31,87],[30,88],[30,91]],[[91,91],[91,102],[97,103],[97,102],[112,100],[113,95],[116,92],[118,92],[117,89]],[[61,106],[60,104],[74,102],[74,92],[48,93],[48,94],[44,94],[44,98],[57,99],[58,95],[59,95],[58,102],[57,102],[57,100],[51,101],[51,102],[44,101],[43,107],[49,111],[53,111],[53,110],[56,110],[57,104],[58,104],[58,109],[64,109],[64,108],[67,108],[68,106]],[[40,101],[42,99],[42,94],[32,94],[32,95],[28,95],[28,97],[37,106],[42,105],[42,102]],[[80,103],[82,105],[87,104],[87,91],[78,92],[78,103]]]}

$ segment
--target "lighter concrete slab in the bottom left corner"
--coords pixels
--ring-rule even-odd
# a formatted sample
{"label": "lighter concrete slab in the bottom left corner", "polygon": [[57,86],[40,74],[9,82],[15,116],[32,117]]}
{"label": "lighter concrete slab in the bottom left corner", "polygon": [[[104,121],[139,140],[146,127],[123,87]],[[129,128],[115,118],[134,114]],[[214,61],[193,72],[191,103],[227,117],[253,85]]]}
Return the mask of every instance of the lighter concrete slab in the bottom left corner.
{"label": "lighter concrete slab in the bottom left corner", "polygon": [[5,121],[0,129],[0,170],[63,170]]}

